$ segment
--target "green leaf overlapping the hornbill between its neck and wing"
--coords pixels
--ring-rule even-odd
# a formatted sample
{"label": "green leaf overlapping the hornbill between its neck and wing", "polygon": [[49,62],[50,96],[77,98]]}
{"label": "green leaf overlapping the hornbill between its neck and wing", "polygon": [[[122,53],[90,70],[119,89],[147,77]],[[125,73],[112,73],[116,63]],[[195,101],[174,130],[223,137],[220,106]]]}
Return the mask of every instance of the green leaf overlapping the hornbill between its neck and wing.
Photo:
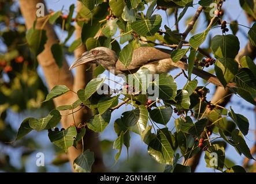
{"label": "green leaf overlapping the hornbill between its neck and wing", "polygon": [[120,62],[124,64],[124,66],[129,66],[132,61],[132,53],[133,53],[133,45],[129,43],[125,45],[125,47],[119,53]]}

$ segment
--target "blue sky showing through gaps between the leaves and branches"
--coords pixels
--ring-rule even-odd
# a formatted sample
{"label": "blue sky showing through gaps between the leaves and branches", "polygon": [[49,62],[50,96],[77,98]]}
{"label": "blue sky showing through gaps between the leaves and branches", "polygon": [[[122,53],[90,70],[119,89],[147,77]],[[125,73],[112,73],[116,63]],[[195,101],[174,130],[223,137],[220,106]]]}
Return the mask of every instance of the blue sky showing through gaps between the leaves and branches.
{"label": "blue sky showing through gaps between the leaves and branches", "polygon": [[[197,2],[197,1],[195,1],[195,2]],[[72,3],[76,3],[76,1],[75,0],[69,0],[69,1],[46,0],[46,3],[47,3],[48,9],[60,10],[62,8],[62,6],[64,6],[64,10],[68,10],[69,6]],[[186,28],[185,20],[195,13],[197,7],[198,7],[198,5],[195,5],[194,7],[190,7],[188,9],[188,13],[185,14],[185,16],[180,21],[180,30],[185,30],[185,28]],[[250,25],[248,25],[246,17],[244,16],[243,10],[240,8],[239,1],[227,0],[224,3],[223,9],[228,11],[228,13],[225,14],[225,17],[224,17],[224,20],[227,20],[227,22],[230,22],[232,20],[237,20],[239,22],[239,24],[250,26]],[[164,11],[158,10],[158,11],[155,11],[155,13],[161,14],[163,17],[162,29],[164,29],[165,24],[170,25],[171,28],[174,26],[175,21],[173,20],[173,18],[170,18],[168,20],[166,18],[166,14]],[[207,24],[207,22],[205,20],[203,20],[203,18],[201,17],[199,19],[199,24],[198,24],[198,28],[196,29],[196,33],[200,33],[203,30],[205,30],[205,28],[207,26],[206,24]],[[174,27],[173,27],[173,29],[174,29]],[[248,29],[244,28],[242,26],[240,26],[239,29],[242,29],[246,33],[248,32]],[[65,35],[65,33],[63,33],[59,29],[57,29],[57,34],[60,38],[63,38]],[[210,34],[212,34],[212,35],[221,34],[221,29],[220,28],[213,29],[210,31]],[[188,36],[188,39],[190,36],[191,35]],[[237,34],[237,36],[239,37],[239,40],[240,40],[240,48],[243,48],[244,45],[246,45],[246,43],[247,43],[247,38],[244,37],[244,35],[241,32],[239,32]],[[69,44],[71,44],[73,40],[74,40],[74,38],[72,37],[71,41],[69,41]],[[206,41],[206,43],[207,43],[207,41]],[[73,62],[73,57],[67,57],[67,59],[68,59],[69,64],[71,64]],[[176,70],[176,71],[170,72],[170,74],[176,75],[177,72],[179,72],[179,71]],[[39,69],[39,74],[42,75],[42,71],[40,69]],[[178,84],[178,88],[182,88],[184,86],[185,80],[182,77],[180,77],[180,78],[177,78],[176,82]],[[201,84],[203,85],[202,81],[199,81],[199,82],[201,82]],[[214,86],[209,85],[207,87],[209,87],[209,89],[210,89],[210,94],[207,96],[207,99],[210,99],[211,95],[214,93]],[[230,103],[227,105],[227,108],[229,108],[229,106],[232,106],[232,108],[235,110],[235,112],[243,114],[244,116],[246,116],[248,118],[248,120],[250,122],[250,129],[249,129],[248,135],[246,136],[246,141],[247,141],[248,146],[252,147],[254,144],[255,114],[253,111],[247,110],[246,108],[243,108],[242,106],[253,108],[253,105],[250,105],[248,102],[244,101],[242,98],[240,98],[236,95],[233,95],[232,102],[233,102],[232,104]],[[237,105],[235,102],[241,102],[242,106]],[[124,110],[126,110],[125,108],[127,108],[127,107],[123,106],[122,108],[118,109],[119,112],[116,112],[113,114],[112,121],[106,128],[106,131],[104,133],[102,133],[101,139],[109,139],[109,140],[116,139],[116,134],[113,133],[113,121],[116,120],[116,118],[120,117],[120,114]],[[169,128],[172,129],[174,127],[174,120],[172,119],[168,125],[169,125]],[[46,133],[44,133],[44,135],[42,135],[42,137],[44,137],[44,136],[47,136]],[[46,147],[47,147],[47,145],[48,145],[48,143],[45,143]],[[147,153],[147,146],[144,143],[142,143],[142,141],[140,140],[140,137],[136,135],[136,136],[132,137],[129,154],[132,154],[132,152],[137,151],[137,150]],[[240,164],[240,165],[242,164],[244,156],[240,156],[235,151],[235,149],[233,147],[228,146],[228,149],[226,150],[225,154],[229,159],[236,162],[236,164]],[[47,160],[47,157],[53,158],[52,157],[53,155],[54,155],[54,152],[47,152],[46,160]],[[121,158],[127,159],[126,151],[122,152]],[[50,162],[50,160],[51,159],[48,159],[48,162]],[[35,156],[32,156],[31,159],[29,159],[29,162],[27,163],[27,165],[29,166],[29,164],[32,164],[33,162],[35,162]],[[111,167],[112,164],[113,163],[109,164],[109,167]],[[202,156],[201,162],[199,163],[199,166],[196,169],[196,171],[197,172],[213,172],[213,170],[211,168],[206,168],[205,166],[206,166],[205,160],[203,159],[203,156]],[[68,166],[66,166],[66,168],[68,168]],[[35,171],[35,169],[36,169],[36,167],[28,167],[28,171]],[[60,171],[59,168],[53,167],[52,169],[53,169],[53,171]]]}

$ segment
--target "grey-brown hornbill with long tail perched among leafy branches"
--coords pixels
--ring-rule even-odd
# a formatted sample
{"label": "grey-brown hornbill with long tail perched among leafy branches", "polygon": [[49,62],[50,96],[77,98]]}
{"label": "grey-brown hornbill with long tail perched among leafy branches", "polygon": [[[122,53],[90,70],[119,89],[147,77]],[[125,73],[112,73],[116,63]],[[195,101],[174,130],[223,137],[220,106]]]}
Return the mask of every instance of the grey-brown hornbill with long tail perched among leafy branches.
{"label": "grey-brown hornbill with long tail perched among leafy branches", "polygon": [[[175,68],[188,70],[188,64],[184,62],[173,62],[170,58],[169,49],[155,48],[155,47],[139,47],[133,51],[132,61],[129,66],[124,64],[118,59],[116,52],[106,47],[97,47],[90,51],[84,52],[79,59],[77,59],[69,68],[75,68],[80,64],[98,63],[106,70],[118,74],[133,74],[140,68],[144,67],[149,69],[151,74],[168,73]],[[192,73],[213,83],[216,86],[222,86],[221,82],[215,75],[194,67]],[[227,87],[236,87],[235,83],[228,83]]]}

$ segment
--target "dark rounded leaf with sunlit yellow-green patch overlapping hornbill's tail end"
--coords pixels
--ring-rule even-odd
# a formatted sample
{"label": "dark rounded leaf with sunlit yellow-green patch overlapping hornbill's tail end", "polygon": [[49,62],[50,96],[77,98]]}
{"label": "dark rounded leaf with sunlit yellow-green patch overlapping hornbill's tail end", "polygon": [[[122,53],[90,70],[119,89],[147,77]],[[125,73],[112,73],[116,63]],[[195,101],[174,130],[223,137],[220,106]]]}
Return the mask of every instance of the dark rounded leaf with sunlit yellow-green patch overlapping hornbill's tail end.
{"label": "dark rounded leaf with sunlit yellow-green patch overlapping hornbill's tail end", "polygon": [[225,87],[238,72],[238,62],[232,58],[221,58],[216,61],[215,72],[217,78],[220,80],[222,85]]}

